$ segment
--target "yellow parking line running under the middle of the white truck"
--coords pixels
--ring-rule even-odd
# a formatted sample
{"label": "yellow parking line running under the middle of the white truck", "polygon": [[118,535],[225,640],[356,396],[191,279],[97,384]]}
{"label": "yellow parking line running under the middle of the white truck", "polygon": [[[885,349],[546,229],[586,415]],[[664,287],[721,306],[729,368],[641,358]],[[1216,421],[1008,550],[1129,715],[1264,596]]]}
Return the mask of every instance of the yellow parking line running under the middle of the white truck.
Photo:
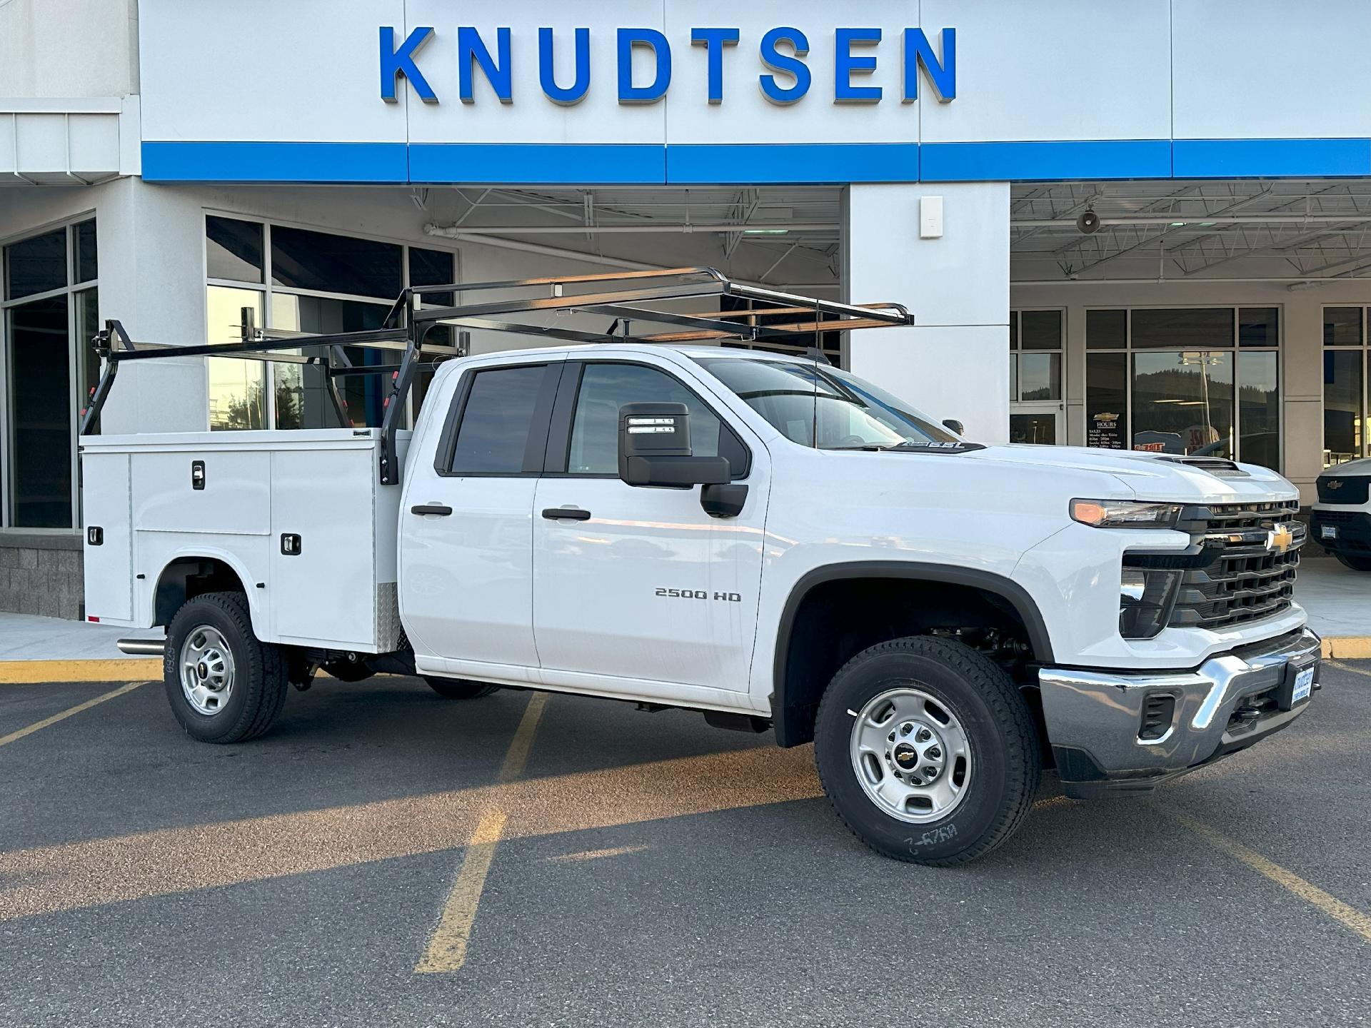
{"label": "yellow parking line running under the middle of the white truck", "polygon": [[[510,748],[505,754],[505,762],[496,780],[506,785],[524,773],[528,763],[528,754],[533,746],[533,733],[537,731],[539,718],[543,717],[543,707],[547,706],[547,694],[535,692],[533,698],[524,707],[524,718],[518,722]],[[472,938],[472,927],[476,924],[476,910],[481,903],[481,892],[485,888],[485,876],[491,870],[491,861],[495,859],[495,850],[505,835],[505,822],[509,816],[496,807],[481,811],[472,839],[466,844],[462,857],[462,868],[452,883],[452,891],[443,905],[443,916],[439,917],[437,928],[429,938],[428,949],[414,965],[415,973],[435,975],[461,970],[466,962],[466,944]]]}

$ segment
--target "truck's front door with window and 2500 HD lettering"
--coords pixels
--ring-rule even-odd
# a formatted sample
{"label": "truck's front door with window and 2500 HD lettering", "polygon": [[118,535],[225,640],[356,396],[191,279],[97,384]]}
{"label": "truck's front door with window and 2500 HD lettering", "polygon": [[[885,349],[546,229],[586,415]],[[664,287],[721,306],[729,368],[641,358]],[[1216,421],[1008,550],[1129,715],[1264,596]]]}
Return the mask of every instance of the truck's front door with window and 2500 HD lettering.
{"label": "truck's front door with window and 2500 HD lettering", "polygon": [[[640,402],[687,404],[692,452],[729,458],[749,487],[739,517],[706,514],[698,485],[620,480],[618,408]],[[751,443],[676,369],[568,363],[533,503],[533,621],[547,684],[613,676],[747,689],[769,484],[766,452]]]}

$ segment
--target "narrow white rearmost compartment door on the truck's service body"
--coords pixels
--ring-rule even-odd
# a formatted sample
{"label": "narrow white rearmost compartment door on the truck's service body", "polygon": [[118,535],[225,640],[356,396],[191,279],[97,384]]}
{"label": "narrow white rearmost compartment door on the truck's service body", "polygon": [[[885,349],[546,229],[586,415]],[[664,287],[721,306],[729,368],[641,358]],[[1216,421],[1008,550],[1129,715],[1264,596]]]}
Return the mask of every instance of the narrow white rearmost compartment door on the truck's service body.
{"label": "narrow white rearmost compartment door on the truck's service body", "polygon": [[[128,454],[81,455],[86,617],[133,618],[133,532]],[[92,541],[99,540],[99,541]]]}

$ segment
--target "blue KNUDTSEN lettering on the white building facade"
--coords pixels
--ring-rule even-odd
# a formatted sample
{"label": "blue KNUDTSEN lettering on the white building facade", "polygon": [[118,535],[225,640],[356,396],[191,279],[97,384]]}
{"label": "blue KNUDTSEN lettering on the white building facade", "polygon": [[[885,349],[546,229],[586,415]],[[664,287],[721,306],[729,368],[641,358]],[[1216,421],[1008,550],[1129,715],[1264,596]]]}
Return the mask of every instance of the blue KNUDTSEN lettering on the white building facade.
{"label": "blue KNUDTSEN lettering on the white building facade", "polygon": [[[880,29],[835,29],[824,42],[828,49],[824,73],[832,73],[832,101],[838,104],[873,104],[883,99],[883,89],[871,84],[882,59]],[[393,26],[380,26],[381,99],[398,101],[399,79],[410,84],[425,103],[439,103],[420,66],[421,51],[436,36],[433,26],[420,26],[396,42]],[[537,77],[543,95],[557,104],[577,104],[590,93],[596,75],[613,77],[621,104],[653,104],[666,96],[672,84],[672,42],[657,29],[617,29],[614,67],[606,73],[591,66],[591,30],[574,29],[558,34],[548,27],[537,30]],[[509,27],[478,30],[474,26],[457,29],[458,96],[462,103],[476,103],[477,77],[491,88],[500,103],[514,101],[514,60]],[[707,95],[701,100],[723,104],[724,62],[743,59],[733,55],[743,44],[754,51],[758,74],[757,85],[771,103],[792,104],[809,95],[814,85],[816,62],[810,40],[799,29],[776,27],[758,40],[743,40],[739,29],[696,27],[690,30],[690,48],[698,51],[691,59],[705,63]],[[935,48],[923,29],[905,29],[890,59],[901,62],[899,99],[913,103],[919,99],[920,77],[928,79],[934,95],[942,103],[957,96],[957,30],[943,29]],[[941,52],[939,52],[941,51]],[[562,69],[561,77],[558,70]],[[821,73],[823,78],[827,74]],[[827,93],[827,85],[824,92]]]}

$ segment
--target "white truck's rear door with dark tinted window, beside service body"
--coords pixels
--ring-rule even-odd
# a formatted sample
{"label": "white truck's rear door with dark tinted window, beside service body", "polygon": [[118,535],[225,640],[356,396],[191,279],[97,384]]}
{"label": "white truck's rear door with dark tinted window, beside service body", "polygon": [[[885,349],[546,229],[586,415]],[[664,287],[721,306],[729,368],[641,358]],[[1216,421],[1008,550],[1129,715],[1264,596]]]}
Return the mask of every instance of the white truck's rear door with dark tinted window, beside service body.
{"label": "white truck's rear door with dark tinted window, beside service body", "polygon": [[463,371],[433,462],[407,474],[400,610],[421,670],[535,676],[533,492],[561,366]]}

